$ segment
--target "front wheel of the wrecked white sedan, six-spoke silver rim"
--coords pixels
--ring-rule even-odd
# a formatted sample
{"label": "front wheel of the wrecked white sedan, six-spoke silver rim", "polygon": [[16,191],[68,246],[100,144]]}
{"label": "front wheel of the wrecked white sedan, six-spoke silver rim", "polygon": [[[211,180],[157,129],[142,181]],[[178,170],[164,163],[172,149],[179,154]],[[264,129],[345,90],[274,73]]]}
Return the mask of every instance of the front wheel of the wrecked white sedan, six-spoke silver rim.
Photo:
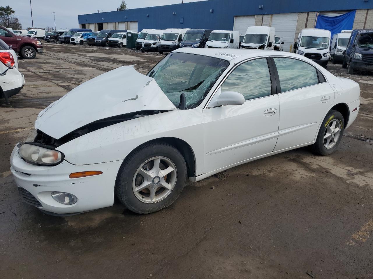
{"label": "front wheel of the wrecked white sedan, six-spoke silver rim", "polygon": [[129,210],[148,214],[175,202],[185,180],[181,153],[164,142],[148,143],[132,151],[122,163],[115,193]]}

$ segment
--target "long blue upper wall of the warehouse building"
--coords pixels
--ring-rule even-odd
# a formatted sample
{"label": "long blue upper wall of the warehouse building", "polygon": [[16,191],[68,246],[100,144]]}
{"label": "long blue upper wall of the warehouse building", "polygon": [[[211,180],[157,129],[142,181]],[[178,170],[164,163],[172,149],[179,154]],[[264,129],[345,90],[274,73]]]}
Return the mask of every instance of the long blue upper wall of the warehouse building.
{"label": "long blue upper wall of the warehouse building", "polygon": [[[259,5],[263,5],[263,9],[259,9]],[[137,21],[139,31],[145,28],[232,30],[234,16],[354,9],[373,9],[373,0],[210,0],[79,15],[78,20],[79,24]],[[180,23],[181,18],[184,23]]]}

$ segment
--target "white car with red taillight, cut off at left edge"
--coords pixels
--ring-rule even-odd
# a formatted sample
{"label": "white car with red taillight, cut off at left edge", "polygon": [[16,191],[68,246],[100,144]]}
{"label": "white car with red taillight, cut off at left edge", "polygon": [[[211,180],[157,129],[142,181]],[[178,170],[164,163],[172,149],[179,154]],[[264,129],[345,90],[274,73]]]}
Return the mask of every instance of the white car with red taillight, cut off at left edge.
{"label": "white car with red taillight, cut off at left edge", "polygon": [[25,77],[18,71],[15,51],[0,39],[0,98],[8,102],[25,84]]}

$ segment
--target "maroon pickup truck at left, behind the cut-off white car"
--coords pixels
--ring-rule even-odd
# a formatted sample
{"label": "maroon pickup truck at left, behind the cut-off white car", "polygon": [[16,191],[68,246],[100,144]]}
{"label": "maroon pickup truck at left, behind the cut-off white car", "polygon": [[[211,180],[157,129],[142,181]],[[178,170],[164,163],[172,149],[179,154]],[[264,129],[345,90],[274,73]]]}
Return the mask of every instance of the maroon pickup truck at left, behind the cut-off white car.
{"label": "maroon pickup truck at left, behind the cut-off white car", "polygon": [[15,35],[4,26],[0,26],[0,39],[25,59],[34,59],[37,53],[43,53],[39,39]]}

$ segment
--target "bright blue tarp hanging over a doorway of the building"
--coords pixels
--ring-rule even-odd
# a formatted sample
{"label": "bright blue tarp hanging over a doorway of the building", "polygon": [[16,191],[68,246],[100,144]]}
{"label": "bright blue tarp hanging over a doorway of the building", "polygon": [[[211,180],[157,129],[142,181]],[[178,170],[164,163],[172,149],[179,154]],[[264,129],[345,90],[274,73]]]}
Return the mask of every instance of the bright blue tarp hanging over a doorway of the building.
{"label": "bright blue tarp hanging over a doorway of the building", "polygon": [[342,30],[352,30],[354,25],[356,10],[345,13],[341,16],[324,16],[317,17],[316,28],[326,29],[332,33],[332,37],[336,33],[341,33]]}

